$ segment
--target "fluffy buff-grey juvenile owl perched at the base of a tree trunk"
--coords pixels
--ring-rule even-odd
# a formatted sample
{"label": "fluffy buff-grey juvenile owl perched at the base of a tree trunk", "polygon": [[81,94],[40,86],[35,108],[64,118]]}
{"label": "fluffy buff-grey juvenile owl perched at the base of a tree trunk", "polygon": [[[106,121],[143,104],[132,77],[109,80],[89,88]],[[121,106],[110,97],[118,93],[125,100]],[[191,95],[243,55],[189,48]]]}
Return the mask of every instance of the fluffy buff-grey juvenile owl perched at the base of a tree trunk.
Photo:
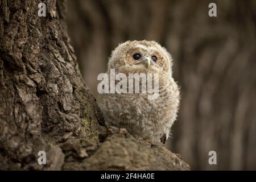
{"label": "fluffy buff-grey juvenile owl perched at the base of a tree trunk", "polygon": [[[121,89],[127,92],[112,92],[100,94],[100,107],[107,126],[125,128],[136,138],[161,140],[163,143],[169,137],[170,129],[177,117],[179,108],[179,88],[172,78],[172,57],[165,48],[154,41],[127,41],[119,44],[112,52],[108,63],[109,78],[122,73],[122,79],[115,79],[114,84],[127,77],[127,86]],[[137,73],[137,74],[136,74]],[[152,92],[130,92],[147,89],[150,84],[136,78],[129,80],[131,75],[152,75],[151,86],[157,88],[155,98],[150,98]],[[157,78],[158,80],[154,79]],[[132,77],[131,77],[132,78]],[[150,81],[150,79],[146,79]],[[124,82],[126,84],[126,82]],[[108,81],[105,89],[111,89],[113,82]],[[131,90],[129,90],[131,89]],[[154,90],[154,89],[153,89]]]}

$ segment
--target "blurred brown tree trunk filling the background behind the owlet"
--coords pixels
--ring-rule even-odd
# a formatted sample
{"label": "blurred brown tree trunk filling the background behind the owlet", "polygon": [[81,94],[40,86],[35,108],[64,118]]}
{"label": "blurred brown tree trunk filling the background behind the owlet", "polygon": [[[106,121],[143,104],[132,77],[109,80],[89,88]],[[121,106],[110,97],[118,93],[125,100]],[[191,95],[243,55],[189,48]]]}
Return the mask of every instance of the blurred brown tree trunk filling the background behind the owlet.
{"label": "blurred brown tree trunk filling the background behind the owlet", "polygon": [[[217,4],[217,17],[208,5]],[[179,118],[168,147],[192,169],[256,169],[256,1],[69,1],[68,28],[85,82],[126,40],[155,40],[174,58]],[[217,152],[210,166],[208,152]]]}

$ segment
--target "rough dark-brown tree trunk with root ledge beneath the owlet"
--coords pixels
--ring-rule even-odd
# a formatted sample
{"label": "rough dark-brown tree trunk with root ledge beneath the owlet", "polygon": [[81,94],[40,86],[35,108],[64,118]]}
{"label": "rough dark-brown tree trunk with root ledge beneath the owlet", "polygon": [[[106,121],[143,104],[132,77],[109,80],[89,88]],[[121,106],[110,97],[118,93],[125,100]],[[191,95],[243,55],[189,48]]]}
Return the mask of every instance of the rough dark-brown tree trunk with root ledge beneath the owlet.
{"label": "rough dark-brown tree trunk with root ledge beneath the owlet", "polygon": [[[82,81],[65,1],[0,1],[0,169],[189,169],[159,143],[106,129]],[[46,151],[47,164],[38,164]]]}

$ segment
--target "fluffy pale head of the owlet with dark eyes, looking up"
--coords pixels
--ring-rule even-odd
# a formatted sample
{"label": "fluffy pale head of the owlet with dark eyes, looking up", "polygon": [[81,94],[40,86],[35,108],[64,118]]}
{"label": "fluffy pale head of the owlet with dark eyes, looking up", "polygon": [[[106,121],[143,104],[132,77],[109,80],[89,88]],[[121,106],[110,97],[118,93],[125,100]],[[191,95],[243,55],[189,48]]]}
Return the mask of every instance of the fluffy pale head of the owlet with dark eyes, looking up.
{"label": "fluffy pale head of the owlet with dark eyes, looking up", "polygon": [[172,57],[154,41],[127,41],[119,44],[109,59],[109,70],[120,73],[170,73]]}

